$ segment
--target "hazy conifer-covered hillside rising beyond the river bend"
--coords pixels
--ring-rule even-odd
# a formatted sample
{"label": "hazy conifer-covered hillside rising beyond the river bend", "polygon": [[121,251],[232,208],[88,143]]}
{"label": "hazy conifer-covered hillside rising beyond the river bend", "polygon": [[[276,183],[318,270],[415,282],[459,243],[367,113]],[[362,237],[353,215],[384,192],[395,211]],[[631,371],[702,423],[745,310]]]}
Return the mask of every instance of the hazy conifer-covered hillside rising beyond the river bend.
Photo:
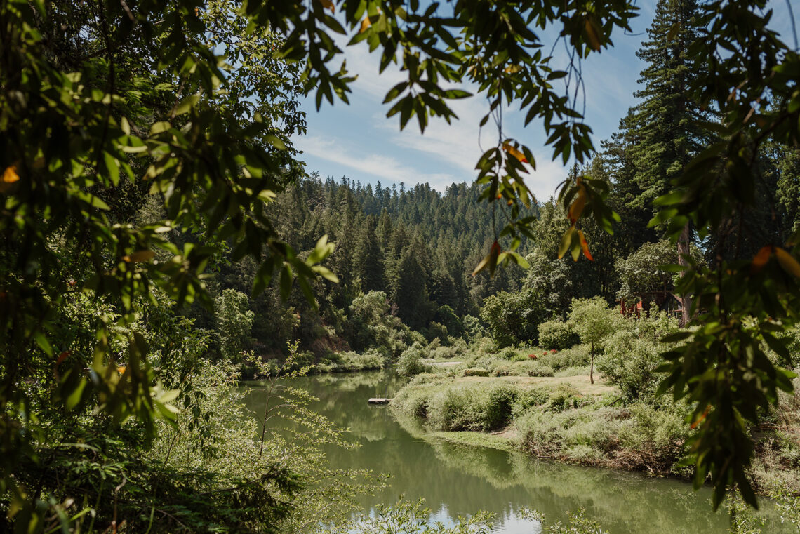
{"label": "hazy conifer-covered hillside rising beyond the river bend", "polygon": [[[322,181],[318,173],[290,185],[270,203],[270,217],[282,238],[301,253],[327,235],[336,249],[326,266],[339,283],[316,283],[317,310],[300,291],[282,303],[277,279],[265,293],[247,297],[246,309],[238,310],[241,321],[248,311],[253,315],[246,347],[257,354],[275,353],[286,348],[287,340],[300,339],[303,349],[318,354],[366,349],[357,339],[351,305],[370,291],[385,294],[387,315],[429,339],[442,337],[448,328],[458,336],[462,317],[477,316],[490,295],[517,291],[525,276],[516,265],[498,269],[494,277],[486,271],[472,276],[495,240],[490,208],[478,201],[481,191],[482,185],[466,183],[450,185],[445,193],[428,184],[406,189],[402,183],[383,188],[378,182],[373,188],[346,177]],[[533,206],[527,215],[535,213]],[[498,210],[498,231],[499,218]],[[529,240],[522,238],[518,252],[530,252]],[[211,285],[218,294],[235,290],[250,296],[254,269],[249,261],[222,265]],[[190,314],[197,318],[195,325],[219,327],[218,318],[208,312],[192,309]]]}

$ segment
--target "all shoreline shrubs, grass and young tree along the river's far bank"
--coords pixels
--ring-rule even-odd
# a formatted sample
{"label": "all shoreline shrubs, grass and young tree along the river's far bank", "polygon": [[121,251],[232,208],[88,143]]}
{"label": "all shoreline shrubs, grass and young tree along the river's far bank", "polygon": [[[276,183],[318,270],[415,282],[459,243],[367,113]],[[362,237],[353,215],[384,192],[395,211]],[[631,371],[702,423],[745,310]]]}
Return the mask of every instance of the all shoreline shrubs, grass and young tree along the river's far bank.
{"label": "all shoreline shrubs, grass and young tree along the river's far bank", "polygon": [[[374,329],[369,322],[365,326]],[[444,343],[438,337],[426,342],[412,332],[399,344],[402,352],[397,345],[392,350],[378,345],[365,353],[299,353],[294,366],[310,365],[309,374],[394,366],[410,382],[395,395],[390,409],[395,416],[418,420],[438,440],[691,478],[686,442],[696,426],[689,422],[693,407],[657,392],[664,377],[658,370],[662,353],[670,348],[662,338],[678,332],[676,317],[655,311],[632,317],[602,299],[574,299],[566,320],[545,321],[537,329],[542,346],[500,348],[481,330],[471,338],[446,337]],[[798,339],[795,329],[786,341],[794,349]],[[393,358],[393,353],[399,356]],[[774,353],[771,357],[776,364],[787,364]],[[788,363],[797,369],[800,362]],[[270,365],[276,367],[278,361],[266,368]],[[798,385],[795,378],[795,391]],[[750,467],[754,484],[764,495],[778,490],[797,495],[797,394],[780,393],[778,406],[764,421],[750,428],[756,442]]]}

